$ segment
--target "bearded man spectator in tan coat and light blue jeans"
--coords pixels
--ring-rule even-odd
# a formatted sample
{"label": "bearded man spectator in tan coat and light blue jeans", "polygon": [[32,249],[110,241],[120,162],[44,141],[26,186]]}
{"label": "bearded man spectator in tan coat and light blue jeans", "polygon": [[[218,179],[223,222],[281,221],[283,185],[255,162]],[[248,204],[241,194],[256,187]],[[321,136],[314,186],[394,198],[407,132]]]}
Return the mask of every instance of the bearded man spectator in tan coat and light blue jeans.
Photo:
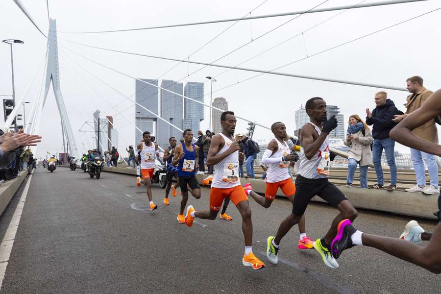
{"label": "bearded man spectator in tan coat and light blue jeans", "polygon": [[[420,108],[424,102],[432,95],[432,91],[423,87],[423,79],[420,76],[412,76],[406,80],[407,90],[412,93],[407,97],[406,113],[403,115],[396,115],[393,120],[395,123],[401,122],[410,113]],[[435,119],[431,119],[415,128],[412,133],[421,139],[432,143],[438,143],[438,130],[435,124]],[[438,188],[438,165],[433,154],[422,152],[418,149],[411,148],[411,159],[414,164],[415,175],[417,176],[417,185],[406,192],[422,192],[424,194],[440,194]],[[430,186],[426,188],[426,174],[424,163],[427,165],[429,171]]]}

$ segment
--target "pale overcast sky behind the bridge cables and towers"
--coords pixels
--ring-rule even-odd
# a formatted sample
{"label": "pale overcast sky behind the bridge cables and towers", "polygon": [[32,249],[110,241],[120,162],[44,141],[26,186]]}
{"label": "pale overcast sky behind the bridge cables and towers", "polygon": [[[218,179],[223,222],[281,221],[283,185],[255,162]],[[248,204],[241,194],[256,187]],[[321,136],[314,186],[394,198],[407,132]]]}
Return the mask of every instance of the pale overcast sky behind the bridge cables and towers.
{"label": "pale overcast sky behind the bridge cables and towers", "polygon": [[[29,14],[44,32],[48,31],[48,14],[45,0],[22,0]],[[258,6],[263,0],[224,0],[224,1],[115,1],[115,0],[49,0],[51,18],[57,20],[59,31],[95,31],[120,28],[170,25],[206,20],[243,17]],[[252,15],[281,13],[310,9],[323,0],[267,0]],[[333,7],[356,4],[360,0],[328,0],[319,7]],[[364,1],[364,3],[373,1]],[[396,4],[379,7],[351,9],[332,20],[307,31],[284,45],[243,64],[247,68],[272,70],[294,60],[312,55],[346,41],[363,36],[378,29],[410,19],[419,14],[440,7],[439,0],[427,0],[415,3]],[[215,3],[221,3],[215,5]],[[16,96],[21,97],[26,86],[37,73],[45,52],[47,40],[29,22],[23,12],[12,0],[1,1],[0,39],[20,39],[25,44],[14,45],[14,70]],[[251,56],[258,54],[275,44],[282,42],[309,27],[339,13],[321,12],[298,17],[287,25],[274,30],[268,35],[252,42],[242,49],[217,61],[218,64],[236,66]],[[267,18],[239,22],[208,46],[191,56],[190,60],[213,62],[222,55],[236,49],[251,39],[281,25],[294,16]],[[421,75],[424,86],[430,90],[440,88],[440,27],[441,10],[417,18],[405,24],[397,25],[383,32],[362,40],[347,44],[323,54],[313,56],[293,65],[279,69],[279,72],[304,74],[317,77],[335,78],[350,81],[376,83],[405,88],[406,78]],[[98,47],[138,52],[183,59],[200,46],[211,40],[232,23],[184,26],[155,30],[115,32],[106,34],[66,34],[59,37]],[[438,41],[437,41],[438,40]],[[62,44],[88,58],[106,66],[139,78],[158,78],[171,69],[177,62],[132,56],[115,52],[85,48],[59,40]],[[306,50],[305,50],[306,46]],[[121,116],[116,115],[105,101],[92,88],[83,82],[77,73],[109,103],[116,105],[119,111],[133,106],[99,80],[79,68],[72,58],[91,73],[111,84],[126,96],[135,93],[135,81],[121,74],[114,73],[82,59],[59,45],[61,91],[65,100],[73,131],[80,142],[90,148],[92,133],[81,134],[78,129],[84,121],[91,121],[92,113],[99,108],[102,115],[114,116],[115,127],[133,144],[135,130]],[[11,87],[9,46],[0,46],[0,94],[9,95]],[[227,89],[217,91],[213,97],[227,99],[229,109],[237,115],[270,125],[275,121],[287,124],[288,131],[294,131],[294,111],[308,98],[322,97],[328,104],[338,105],[345,116],[359,114],[366,117],[365,109],[373,109],[374,93],[383,90],[363,86],[322,82],[294,77],[265,74],[241,82],[257,73],[231,70],[219,75],[224,69],[207,67],[187,77],[201,66],[180,64],[164,75],[164,79],[203,82],[207,75],[215,76],[213,91],[237,83]],[[77,72],[75,73],[73,69]],[[218,76],[219,75],[219,76]],[[30,88],[26,101],[33,103],[39,95],[43,71],[41,70]],[[205,83],[206,101],[209,99],[210,84]],[[387,90],[399,109],[408,93]],[[52,92],[44,109],[40,135],[44,137],[37,155],[45,156],[62,151],[61,124],[58,109]],[[29,104],[28,104],[29,105]],[[32,105],[32,104],[30,104]],[[31,106],[26,106],[29,114]],[[208,108],[205,117],[208,118]],[[123,112],[134,121],[134,107]],[[2,114],[1,114],[2,116]],[[239,121],[236,132],[245,132],[246,122]],[[201,128],[208,127],[208,120],[201,123]],[[440,128],[439,128],[440,129]],[[257,127],[255,138],[270,138],[270,131]],[[126,142],[120,136],[119,148],[124,149]],[[399,146],[402,153],[409,153],[407,147]],[[121,152],[125,155],[124,152]]]}

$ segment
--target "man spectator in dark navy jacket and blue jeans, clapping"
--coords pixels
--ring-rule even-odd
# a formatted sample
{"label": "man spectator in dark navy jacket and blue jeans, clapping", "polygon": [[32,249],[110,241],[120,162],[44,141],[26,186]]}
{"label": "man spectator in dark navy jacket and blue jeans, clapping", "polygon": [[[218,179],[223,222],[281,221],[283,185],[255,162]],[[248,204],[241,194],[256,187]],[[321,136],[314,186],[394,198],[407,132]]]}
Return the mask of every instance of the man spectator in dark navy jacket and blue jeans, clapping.
{"label": "man spectator in dark navy jacket and blue jeans, clapping", "polygon": [[395,149],[395,141],[389,137],[389,132],[392,130],[394,124],[393,117],[398,113],[398,109],[391,99],[388,99],[388,94],[380,91],[375,94],[374,98],[376,107],[372,112],[369,108],[366,109],[366,123],[373,125],[372,127],[372,160],[375,166],[375,173],[377,174],[377,184],[373,185],[374,189],[383,189],[384,178],[383,170],[381,168],[381,155],[383,149],[386,151],[386,159],[391,170],[391,184],[386,188],[388,191],[396,190],[396,165],[395,157],[393,155]]}

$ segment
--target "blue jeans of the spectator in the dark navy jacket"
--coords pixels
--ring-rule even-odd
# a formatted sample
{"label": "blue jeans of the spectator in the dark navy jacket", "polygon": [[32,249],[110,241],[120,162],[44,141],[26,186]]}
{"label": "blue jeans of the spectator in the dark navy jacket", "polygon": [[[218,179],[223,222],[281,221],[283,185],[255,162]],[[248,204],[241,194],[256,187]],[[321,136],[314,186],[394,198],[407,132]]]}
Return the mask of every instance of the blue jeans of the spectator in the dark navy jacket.
{"label": "blue jeans of the spectator in the dark navy jacket", "polygon": [[378,184],[384,184],[383,170],[381,169],[381,154],[383,154],[383,149],[386,151],[386,159],[391,170],[391,185],[396,186],[396,165],[395,157],[393,157],[395,141],[391,138],[375,139],[372,143],[372,161],[375,166]]}

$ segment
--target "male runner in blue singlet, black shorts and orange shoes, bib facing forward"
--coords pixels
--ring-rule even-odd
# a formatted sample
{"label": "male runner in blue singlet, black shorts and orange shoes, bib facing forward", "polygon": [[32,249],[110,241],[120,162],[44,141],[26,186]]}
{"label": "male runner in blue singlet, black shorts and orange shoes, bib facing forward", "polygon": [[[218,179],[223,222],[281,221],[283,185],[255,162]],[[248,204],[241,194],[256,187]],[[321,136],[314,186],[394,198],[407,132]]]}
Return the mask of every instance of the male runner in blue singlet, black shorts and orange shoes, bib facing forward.
{"label": "male runner in blue singlet, black shorts and orange shoes, bib facing forward", "polygon": [[198,155],[199,147],[193,142],[193,131],[191,129],[184,130],[184,142],[176,146],[172,165],[178,167],[179,186],[181,187],[181,208],[177,216],[179,223],[184,221],[184,209],[188,201],[188,187],[191,189],[193,197],[200,198],[200,187],[196,179],[196,172],[199,169]]}

